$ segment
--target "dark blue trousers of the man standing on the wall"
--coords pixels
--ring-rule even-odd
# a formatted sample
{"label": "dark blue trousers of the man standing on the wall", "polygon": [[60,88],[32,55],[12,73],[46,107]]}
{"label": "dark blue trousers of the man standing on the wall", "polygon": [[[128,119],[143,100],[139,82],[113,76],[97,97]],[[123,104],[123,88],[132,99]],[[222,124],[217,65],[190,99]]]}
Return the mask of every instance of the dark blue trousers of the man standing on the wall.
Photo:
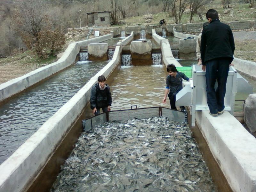
{"label": "dark blue trousers of the man standing on the wall", "polygon": [[[218,111],[222,111],[225,108],[224,97],[226,94],[229,65],[229,58],[218,58],[206,62],[207,104],[212,114],[217,114]],[[216,79],[218,87],[215,90]]]}

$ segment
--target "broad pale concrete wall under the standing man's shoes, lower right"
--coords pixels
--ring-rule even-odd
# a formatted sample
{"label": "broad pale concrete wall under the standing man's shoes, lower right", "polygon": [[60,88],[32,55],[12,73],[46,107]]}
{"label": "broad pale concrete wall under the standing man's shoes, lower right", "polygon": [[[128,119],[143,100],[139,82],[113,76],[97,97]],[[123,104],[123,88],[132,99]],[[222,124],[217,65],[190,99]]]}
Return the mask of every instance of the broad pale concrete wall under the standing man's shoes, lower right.
{"label": "broad pale concrete wall under the standing man's shoes, lower right", "polygon": [[228,112],[196,111],[196,123],[232,190],[256,191],[255,138]]}

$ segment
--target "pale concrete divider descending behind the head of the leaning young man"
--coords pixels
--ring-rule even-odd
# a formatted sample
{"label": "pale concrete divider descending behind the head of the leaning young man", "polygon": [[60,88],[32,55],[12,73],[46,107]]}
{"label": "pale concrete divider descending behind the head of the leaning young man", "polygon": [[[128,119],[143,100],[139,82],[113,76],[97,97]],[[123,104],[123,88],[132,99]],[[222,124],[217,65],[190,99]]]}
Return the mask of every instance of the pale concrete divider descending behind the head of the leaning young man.
{"label": "pale concrete divider descending behind the head of the leaning young man", "polygon": [[165,67],[167,67],[169,64],[174,64],[176,67],[182,67],[180,63],[173,57],[168,39],[157,35],[155,29],[152,29],[152,37],[157,43],[161,44],[162,60]]}

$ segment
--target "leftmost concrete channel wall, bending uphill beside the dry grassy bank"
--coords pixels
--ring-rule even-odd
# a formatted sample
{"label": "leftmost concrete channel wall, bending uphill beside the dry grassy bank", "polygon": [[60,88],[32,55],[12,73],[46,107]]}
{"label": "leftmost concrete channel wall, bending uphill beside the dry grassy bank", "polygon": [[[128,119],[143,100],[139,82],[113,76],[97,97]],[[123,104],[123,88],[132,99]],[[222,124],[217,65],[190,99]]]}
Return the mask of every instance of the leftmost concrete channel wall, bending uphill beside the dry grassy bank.
{"label": "leftmost concrete channel wall, bending uphill beside the dry grassy bank", "polygon": [[38,68],[24,76],[0,84],[0,102],[19,92],[24,91],[28,87],[73,64],[76,60],[76,56],[79,53],[81,46],[87,46],[89,43],[99,43],[111,38],[113,38],[113,34],[72,43],[68,46],[68,48],[65,50],[62,57],[58,61],[47,66]]}

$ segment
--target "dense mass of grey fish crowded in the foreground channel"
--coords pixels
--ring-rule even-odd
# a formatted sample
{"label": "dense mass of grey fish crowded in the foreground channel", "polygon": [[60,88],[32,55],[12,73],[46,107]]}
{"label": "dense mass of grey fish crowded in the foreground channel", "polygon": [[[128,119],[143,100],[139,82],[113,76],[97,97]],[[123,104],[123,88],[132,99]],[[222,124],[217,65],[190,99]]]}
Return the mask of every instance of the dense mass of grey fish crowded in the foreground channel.
{"label": "dense mass of grey fish crowded in the foreground channel", "polygon": [[79,137],[53,191],[217,191],[189,126],[166,117],[110,121]]}

